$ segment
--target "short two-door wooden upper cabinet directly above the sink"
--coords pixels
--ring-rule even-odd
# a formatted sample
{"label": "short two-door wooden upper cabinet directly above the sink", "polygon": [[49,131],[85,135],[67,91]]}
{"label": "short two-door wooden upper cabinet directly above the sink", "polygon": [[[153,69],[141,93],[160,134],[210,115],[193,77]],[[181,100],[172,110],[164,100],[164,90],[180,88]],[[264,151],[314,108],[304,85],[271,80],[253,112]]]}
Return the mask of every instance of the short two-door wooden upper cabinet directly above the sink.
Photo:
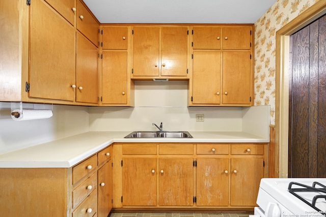
{"label": "short two-door wooden upper cabinet directly above the sink", "polygon": [[133,26],[131,78],[188,78],[188,26]]}

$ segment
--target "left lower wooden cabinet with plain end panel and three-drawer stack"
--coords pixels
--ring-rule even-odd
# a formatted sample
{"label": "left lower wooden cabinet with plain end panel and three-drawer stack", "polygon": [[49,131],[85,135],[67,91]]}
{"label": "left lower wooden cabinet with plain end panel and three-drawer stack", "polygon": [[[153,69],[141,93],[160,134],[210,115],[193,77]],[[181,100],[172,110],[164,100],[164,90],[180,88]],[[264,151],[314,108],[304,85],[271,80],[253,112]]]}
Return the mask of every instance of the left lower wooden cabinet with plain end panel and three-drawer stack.
{"label": "left lower wooden cabinet with plain end panel and three-drawer stack", "polygon": [[112,208],[112,146],[70,168],[0,168],[2,216],[98,216]]}

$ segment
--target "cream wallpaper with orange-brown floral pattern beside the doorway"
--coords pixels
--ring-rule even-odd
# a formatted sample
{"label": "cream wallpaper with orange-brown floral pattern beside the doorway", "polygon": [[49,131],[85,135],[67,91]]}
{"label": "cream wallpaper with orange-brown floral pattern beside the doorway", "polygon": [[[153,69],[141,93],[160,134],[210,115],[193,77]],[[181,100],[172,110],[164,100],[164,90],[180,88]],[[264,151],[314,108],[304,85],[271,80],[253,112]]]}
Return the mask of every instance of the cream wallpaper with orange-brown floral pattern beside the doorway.
{"label": "cream wallpaper with orange-brown floral pattern beside the doorway", "polygon": [[277,0],[255,23],[255,106],[270,105],[275,125],[276,32],[318,0]]}

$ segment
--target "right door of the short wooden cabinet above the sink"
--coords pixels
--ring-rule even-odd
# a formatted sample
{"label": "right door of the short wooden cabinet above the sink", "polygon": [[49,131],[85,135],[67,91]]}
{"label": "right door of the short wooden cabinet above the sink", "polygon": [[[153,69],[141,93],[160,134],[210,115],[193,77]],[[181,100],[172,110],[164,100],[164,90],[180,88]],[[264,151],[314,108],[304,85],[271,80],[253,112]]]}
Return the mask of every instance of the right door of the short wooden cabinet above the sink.
{"label": "right door of the short wooden cabinet above the sink", "polygon": [[187,76],[188,27],[161,31],[161,76]]}

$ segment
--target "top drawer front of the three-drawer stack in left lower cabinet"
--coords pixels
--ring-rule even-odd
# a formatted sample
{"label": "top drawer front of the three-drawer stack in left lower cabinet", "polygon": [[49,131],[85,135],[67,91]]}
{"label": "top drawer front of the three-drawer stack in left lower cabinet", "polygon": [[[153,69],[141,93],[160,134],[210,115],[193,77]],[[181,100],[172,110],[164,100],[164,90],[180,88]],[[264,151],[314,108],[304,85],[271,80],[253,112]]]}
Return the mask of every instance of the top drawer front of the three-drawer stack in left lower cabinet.
{"label": "top drawer front of the three-drawer stack in left lower cabinet", "polygon": [[72,184],[75,184],[87,174],[93,173],[97,168],[97,155],[94,154],[89,159],[72,168]]}

